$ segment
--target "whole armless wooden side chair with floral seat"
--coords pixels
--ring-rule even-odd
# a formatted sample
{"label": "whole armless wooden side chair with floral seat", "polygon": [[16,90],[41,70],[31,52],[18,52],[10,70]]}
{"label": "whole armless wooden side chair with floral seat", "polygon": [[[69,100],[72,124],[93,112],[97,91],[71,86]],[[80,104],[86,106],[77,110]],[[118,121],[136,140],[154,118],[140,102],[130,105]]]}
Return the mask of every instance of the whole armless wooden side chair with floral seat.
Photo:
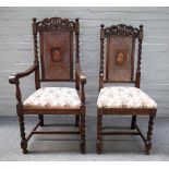
{"label": "whole armless wooden side chair with floral seat", "polygon": [[[102,150],[104,135],[140,135],[145,143],[145,153],[152,148],[152,134],[157,104],[140,89],[143,25],[140,28],[123,24],[100,27],[99,96],[97,100],[97,153]],[[106,43],[105,43],[106,41]],[[106,46],[106,52],[105,47]],[[136,50],[137,49],[137,50]],[[137,52],[137,58],[135,57]],[[135,61],[136,58],[136,69]],[[133,84],[109,86],[105,83]],[[132,116],[133,131],[106,131],[104,116]],[[137,116],[148,116],[148,132],[145,137],[136,124]]]}

